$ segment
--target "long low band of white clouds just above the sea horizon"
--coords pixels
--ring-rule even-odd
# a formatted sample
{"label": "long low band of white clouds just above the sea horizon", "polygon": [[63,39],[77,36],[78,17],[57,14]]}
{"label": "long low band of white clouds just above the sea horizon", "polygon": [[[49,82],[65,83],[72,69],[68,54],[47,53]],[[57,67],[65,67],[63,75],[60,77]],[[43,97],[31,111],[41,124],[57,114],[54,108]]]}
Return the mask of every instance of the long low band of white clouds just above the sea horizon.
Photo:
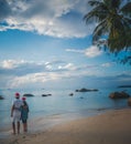
{"label": "long low band of white clouds just above the sea horizon", "polygon": [[[26,62],[24,60],[4,60],[0,62],[0,88],[21,88],[33,84],[44,84],[48,81],[77,79],[81,75],[92,75],[90,65],[75,65],[62,60],[51,62]],[[88,69],[90,68],[90,69]],[[41,85],[40,84],[40,85]]]}

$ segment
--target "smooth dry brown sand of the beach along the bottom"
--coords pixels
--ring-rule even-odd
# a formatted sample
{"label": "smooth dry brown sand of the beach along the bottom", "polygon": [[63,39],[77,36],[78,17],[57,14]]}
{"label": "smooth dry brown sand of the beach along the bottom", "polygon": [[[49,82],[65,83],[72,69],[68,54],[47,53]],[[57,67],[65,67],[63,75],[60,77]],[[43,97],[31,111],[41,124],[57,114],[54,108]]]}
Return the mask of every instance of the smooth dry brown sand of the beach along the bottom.
{"label": "smooth dry brown sand of the beach along the bottom", "polygon": [[131,110],[112,110],[103,114],[56,124],[46,131],[11,135],[1,144],[131,144]]}

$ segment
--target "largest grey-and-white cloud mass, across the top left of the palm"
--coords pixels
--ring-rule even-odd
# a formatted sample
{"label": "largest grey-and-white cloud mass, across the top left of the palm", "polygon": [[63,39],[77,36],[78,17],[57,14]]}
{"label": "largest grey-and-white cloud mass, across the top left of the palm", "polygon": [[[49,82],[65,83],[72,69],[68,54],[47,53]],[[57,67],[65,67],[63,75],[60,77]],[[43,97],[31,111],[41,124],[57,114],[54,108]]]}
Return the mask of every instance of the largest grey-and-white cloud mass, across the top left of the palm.
{"label": "largest grey-and-white cloud mass, across the top left of the palm", "polygon": [[88,11],[86,3],[86,0],[8,0],[0,16],[6,24],[0,30],[19,29],[58,38],[86,37],[94,28],[92,23],[86,27],[83,21]]}

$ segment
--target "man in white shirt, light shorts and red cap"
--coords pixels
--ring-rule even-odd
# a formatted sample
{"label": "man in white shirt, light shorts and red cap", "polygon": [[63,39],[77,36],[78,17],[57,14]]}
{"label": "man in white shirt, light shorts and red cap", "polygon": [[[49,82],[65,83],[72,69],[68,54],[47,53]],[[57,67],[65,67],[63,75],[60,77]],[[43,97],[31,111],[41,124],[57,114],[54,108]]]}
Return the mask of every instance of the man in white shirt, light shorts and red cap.
{"label": "man in white shirt, light shorts and red cap", "polygon": [[20,100],[20,93],[15,93],[15,100],[13,101],[12,106],[11,106],[13,134],[15,134],[17,130],[18,130],[18,134],[20,133],[20,120],[21,120],[22,105],[23,105],[23,102]]}

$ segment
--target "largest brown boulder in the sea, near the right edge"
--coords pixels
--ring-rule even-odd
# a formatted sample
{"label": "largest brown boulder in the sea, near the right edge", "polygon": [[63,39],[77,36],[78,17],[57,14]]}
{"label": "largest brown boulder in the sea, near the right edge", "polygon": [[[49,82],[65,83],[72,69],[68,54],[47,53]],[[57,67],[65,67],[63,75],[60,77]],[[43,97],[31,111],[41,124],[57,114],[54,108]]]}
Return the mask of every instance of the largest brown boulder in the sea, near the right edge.
{"label": "largest brown boulder in the sea, near the right edge", "polygon": [[125,92],[112,92],[109,94],[110,99],[128,99],[130,95]]}

